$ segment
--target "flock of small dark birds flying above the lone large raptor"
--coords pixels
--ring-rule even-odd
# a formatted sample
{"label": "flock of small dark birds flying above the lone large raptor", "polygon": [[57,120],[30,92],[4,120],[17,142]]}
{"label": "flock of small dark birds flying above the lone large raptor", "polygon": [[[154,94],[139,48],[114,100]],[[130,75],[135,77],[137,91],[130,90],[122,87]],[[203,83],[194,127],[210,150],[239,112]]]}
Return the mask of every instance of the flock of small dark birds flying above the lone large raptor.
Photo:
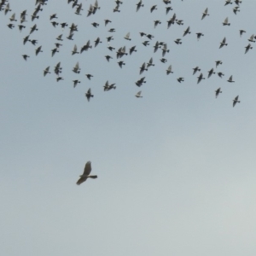
{"label": "flock of small dark birds flying above the lone large raptor", "polygon": [[[94,0],[93,0],[94,1]],[[122,1],[119,1],[119,0],[116,0],[114,1],[115,2],[115,6],[113,8],[113,13],[119,13],[121,11],[121,7],[123,5],[123,2]],[[170,13],[170,11],[172,9],[172,6],[171,6],[171,0],[162,0],[162,2],[166,5],[165,8],[166,8],[166,15],[168,15]],[[34,9],[32,15],[31,15],[31,20],[36,20],[39,18],[39,14],[40,12],[44,9],[44,6],[47,5],[48,1],[47,0],[36,0],[36,8]],[[71,7],[74,9],[74,14],[75,15],[83,15],[83,11],[84,11],[84,7],[83,7],[83,3],[79,3],[79,0],[67,0],[67,3],[68,4],[71,4]],[[232,2],[232,0],[224,0],[224,6],[227,6],[227,5],[231,5],[232,3],[235,3],[236,6],[233,8],[233,12],[234,14],[236,15],[237,12],[240,12],[240,4],[241,4],[241,0],[235,0],[234,2]],[[234,5],[235,5],[234,4]],[[157,10],[157,5],[153,5],[152,7],[149,8],[149,11],[152,13],[154,12],[155,10]],[[136,7],[135,7],[135,12],[138,12],[140,9],[142,8],[145,8],[144,7],[144,3],[143,3],[143,0],[140,0]],[[95,0],[94,3],[90,4],[89,5],[89,9],[87,11],[87,17],[89,17],[90,15],[96,15],[96,13],[101,9],[99,3],[98,3],[98,0]],[[3,13],[5,15],[8,15],[10,14],[9,16],[9,20],[10,20],[10,23],[8,24],[9,28],[10,29],[13,29],[15,28],[15,22],[17,22],[18,20],[16,20],[16,15],[15,13],[12,13],[12,9],[10,8],[10,3],[9,3],[9,0],[0,0],[0,11],[3,11]],[[209,16],[209,10],[208,8],[205,9],[203,12],[202,12],[202,15],[201,15],[201,20],[204,20],[204,19],[207,19],[207,16]],[[20,32],[26,30],[26,26],[24,25],[25,22],[27,21],[26,20],[26,10],[22,11],[20,13],[20,25],[18,25],[18,28],[20,30]],[[57,27],[57,26],[61,26],[61,28],[64,30],[66,27],[68,27],[69,25],[66,23],[66,22],[57,22],[56,20],[58,19],[57,17],[57,14],[53,14],[53,15],[50,15],[49,16],[49,20],[52,24],[52,26],[54,27]],[[112,21],[111,20],[108,20],[108,19],[105,19],[104,20],[104,25],[107,27],[108,24],[111,24]],[[154,28],[156,28],[157,26],[159,26],[160,24],[162,23],[161,20],[154,20]],[[178,20],[177,19],[177,15],[173,12],[173,15],[171,16],[171,18],[169,20],[166,20],[166,29],[169,29],[171,26],[174,26],[174,25],[178,25],[178,26],[183,26],[183,23],[184,21],[183,20]],[[100,26],[99,23],[97,22],[92,22],[91,23],[91,26],[97,28],[98,26]],[[229,22],[229,18],[225,18],[224,21],[223,21],[223,26],[230,26],[230,22]],[[25,38],[23,38],[23,44],[27,44],[27,42],[30,42],[32,45],[36,46],[38,44],[38,40],[36,39],[31,39],[31,35],[33,32],[36,32],[38,31],[38,26],[37,24],[34,24],[31,28],[30,28],[30,31],[29,31],[29,34],[26,35]],[[65,38],[63,38],[63,34],[60,34],[58,35],[55,40],[55,48],[54,49],[51,49],[51,55],[52,57],[56,54],[56,53],[59,53],[60,52],[60,49],[62,47],[62,41],[64,40],[74,40],[73,37],[74,37],[74,34],[75,32],[78,32],[79,29],[78,29],[78,25],[75,25],[74,23],[72,23],[70,26],[69,26],[69,32],[68,32],[68,35]],[[108,30],[109,33],[113,34],[115,31],[114,28],[110,28]],[[185,36],[189,35],[191,33],[190,31],[190,27],[188,26],[184,32],[183,32],[183,37],[184,38]],[[240,30],[239,31],[240,33],[240,36],[242,36],[243,33],[245,33],[244,30]],[[197,40],[200,40],[201,37],[204,36],[204,34],[202,32],[196,32],[196,38]],[[142,42],[142,44],[147,47],[151,42],[153,42],[154,40],[154,35],[152,34],[149,34],[149,33],[145,33],[145,32],[140,32],[140,37],[141,38],[146,38],[146,40],[144,40]],[[177,45],[180,45],[182,44],[182,38],[177,38],[174,40],[174,43],[177,44]],[[106,38],[106,43],[107,43],[107,49],[109,50],[109,54],[105,55],[105,58],[106,58],[106,61],[112,61],[113,59],[113,56],[110,55],[110,53],[113,53],[113,51],[115,50],[115,48],[111,45],[111,42],[113,41],[113,35],[109,35],[107,38]],[[124,39],[126,41],[131,41],[131,33],[128,32],[125,34],[124,36]],[[253,34],[249,39],[248,41],[250,43],[254,43],[255,42],[255,39],[256,39],[256,36]],[[247,46],[245,47],[245,54],[247,54],[247,52],[250,50],[250,49],[253,49],[252,45],[251,44],[247,44]],[[94,41],[94,45],[92,45],[90,43],[90,40],[88,40],[86,42],[86,44],[82,45],[79,49],[79,47],[77,46],[77,44],[74,44],[73,46],[73,49],[71,50],[71,55],[80,55],[80,54],[83,54],[84,52],[90,50],[93,48],[96,48],[99,44],[102,44],[102,40],[100,37],[96,38],[96,40]],[[223,48],[224,46],[227,46],[228,43],[227,43],[227,39],[226,38],[223,38],[223,40],[219,43],[219,49]],[[167,46],[167,43],[166,42],[161,42],[159,40],[156,40],[154,42],[154,46],[153,46],[153,52],[156,53],[158,50],[161,50],[162,51],[162,54],[161,54],[161,58],[160,58],[160,61],[162,63],[166,63],[167,62],[167,59],[165,58],[166,57],[166,54],[170,52],[170,49],[168,49],[168,46]],[[38,47],[35,48],[35,55],[39,55],[40,53],[43,52],[43,46],[40,45]],[[131,46],[131,48],[129,49],[129,51],[126,50],[126,46],[122,46],[122,47],[119,47],[119,49],[116,50],[116,58],[119,60],[119,59],[122,59],[125,55],[132,55],[134,52],[137,52],[137,45],[133,45]],[[27,61],[28,58],[30,58],[29,55],[22,55],[24,60]],[[125,66],[125,61],[121,61],[119,60],[118,62],[118,65],[120,68],[123,68],[123,66]],[[222,61],[216,61],[216,68],[218,67],[218,65],[221,65],[223,62]],[[154,67],[154,61],[153,61],[153,57],[151,57],[149,59],[148,62],[143,62],[142,66],[139,67],[139,74],[142,75],[145,71],[148,71],[148,68],[149,67]],[[63,80],[63,77],[61,76],[61,72],[62,72],[62,67],[61,67],[61,61],[59,61],[55,67],[54,67],[54,73],[56,75],[56,81],[59,82],[61,80]],[[77,61],[76,65],[73,67],[73,73],[77,73],[79,74],[81,71],[81,68],[80,68],[80,65],[79,65],[79,61]],[[195,73],[200,73],[201,72],[201,68],[200,67],[194,67],[193,68],[193,75],[195,75]],[[50,67],[46,67],[44,69],[44,76],[46,76],[47,74],[51,73],[50,71]],[[172,74],[173,71],[172,71],[172,65],[168,65],[168,67],[166,68],[166,75],[169,75],[169,74]],[[212,74],[215,74],[217,73],[218,74],[218,77],[219,78],[223,78],[224,76],[224,73],[222,72],[215,72],[214,71],[214,68],[210,69],[208,71],[208,75],[207,75],[207,78],[209,79]],[[86,73],[85,76],[87,77],[87,79],[92,79],[93,78],[93,75],[90,74],[90,73]],[[205,79],[203,73],[200,73],[199,76],[197,77],[197,84],[201,83],[201,80],[202,79]],[[177,78],[177,82],[178,83],[182,83],[184,81],[184,78],[183,77],[178,77]],[[233,80],[233,76],[231,75],[230,78],[227,80],[227,82],[229,83],[234,83],[235,81]],[[78,84],[80,84],[81,81],[79,79],[74,79],[73,80],[73,87],[76,87]],[[146,77],[143,77],[141,79],[138,79],[135,84],[138,86],[138,87],[141,87],[144,83],[146,83]],[[113,83],[109,83],[108,80],[106,81],[105,85],[103,86],[103,90],[104,91],[109,91],[109,90],[114,90],[116,89],[116,85]],[[215,90],[215,96],[216,98],[218,97],[218,95],[222,93],[221,91],[221,88],[218,88],[217,90]],[[88,102],[90,102],[90,98],[93,97],[94,95],[92,94],[91,92],[91,89],[89,88],[86,93],[85,93],[85,96],[88,100]],[[137,94],[135,95],[137,98],[142,98],[142,90],[138,91]],[[233,107],[236,106],[236,103],[239,103],[240,101],[238,100],[239,96],[236,96],[235,99],[233,100]]]}

